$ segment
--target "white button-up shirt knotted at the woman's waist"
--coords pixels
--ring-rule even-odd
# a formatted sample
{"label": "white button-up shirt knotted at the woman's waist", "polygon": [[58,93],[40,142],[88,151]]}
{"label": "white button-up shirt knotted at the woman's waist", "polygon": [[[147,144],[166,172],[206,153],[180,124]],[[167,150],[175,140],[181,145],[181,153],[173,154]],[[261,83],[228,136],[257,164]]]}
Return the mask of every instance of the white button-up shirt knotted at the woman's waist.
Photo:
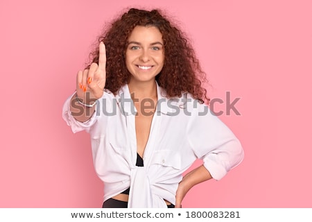
{"label": "white button-up shirt knotted at the woman's waist", "polygon": [[82,123],[73,118],[70,99],[63,119],[73,133],[91,137],[96,173],[104,182],[104,201],[130,187],[128,207],[175,204],[182,173],[200,158],[211,176],[220,180],[243,160],[243,148],[231,130],[190,94],[168,99],[157,85],[157,109],[144,150],[144,167],[137,167],[135,105],[128,85],[114,96],[105,90],[96,112]]}

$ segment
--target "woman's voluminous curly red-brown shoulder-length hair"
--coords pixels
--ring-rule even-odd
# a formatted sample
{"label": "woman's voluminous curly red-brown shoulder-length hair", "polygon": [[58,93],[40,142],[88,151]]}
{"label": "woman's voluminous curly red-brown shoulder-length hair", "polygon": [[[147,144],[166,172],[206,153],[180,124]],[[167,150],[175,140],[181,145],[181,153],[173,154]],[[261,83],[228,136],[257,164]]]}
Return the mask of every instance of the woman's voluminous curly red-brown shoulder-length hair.
{"label": "woman's voluminous curly red-brown shoulder-length hair", "polygon": [[[193,47],[184,33],[169,22],[160,10],[131,8],[114,19],[98,37],[98,42],[104,42],[106,46],[105,88],[116,94],[130,79],[131,74],[125,66],[125,49],[135,26],[155,26],[162,33],[164,67],[156,80],[166,90],[167,96],[182,96],[182,93],[189,92],[201,103],[209,103],[207,90],[202,86],[207,81],[206,74],[200,67]],[[90,59],[98,63],[98,47],[90,53]]]}

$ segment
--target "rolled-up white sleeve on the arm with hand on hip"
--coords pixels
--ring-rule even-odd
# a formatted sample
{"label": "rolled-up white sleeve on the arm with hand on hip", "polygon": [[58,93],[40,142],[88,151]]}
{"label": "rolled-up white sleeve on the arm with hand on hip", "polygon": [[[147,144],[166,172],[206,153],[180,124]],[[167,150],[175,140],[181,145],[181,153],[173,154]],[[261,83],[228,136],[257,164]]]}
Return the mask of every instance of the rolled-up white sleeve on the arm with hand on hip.
{"label": "rolled-up white sleeve on the arm with hand on hip", "polygon": [[215,180],[242,162],[241,142],[207,105],[198,104],[193,109],[187,130],[193,152]]}

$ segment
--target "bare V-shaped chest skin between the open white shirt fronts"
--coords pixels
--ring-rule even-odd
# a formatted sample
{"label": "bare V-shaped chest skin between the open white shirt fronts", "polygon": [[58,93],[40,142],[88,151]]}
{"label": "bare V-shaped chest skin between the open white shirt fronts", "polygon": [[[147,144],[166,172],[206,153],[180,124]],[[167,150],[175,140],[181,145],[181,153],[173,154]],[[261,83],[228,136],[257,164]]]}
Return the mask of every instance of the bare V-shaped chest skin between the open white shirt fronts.
{"label": "bare V-shaped chest skin between the open white shirt fronts", "polygon": [[153,103],[142,103],[141,101],[135,103],[135,108],[137,109],[137,116],[135,117],[137,153],[139,153],[141,157],[143,157],[146,144],[148,143],[150,126],[152,125],[157,99],[154,99],[153,101]]}

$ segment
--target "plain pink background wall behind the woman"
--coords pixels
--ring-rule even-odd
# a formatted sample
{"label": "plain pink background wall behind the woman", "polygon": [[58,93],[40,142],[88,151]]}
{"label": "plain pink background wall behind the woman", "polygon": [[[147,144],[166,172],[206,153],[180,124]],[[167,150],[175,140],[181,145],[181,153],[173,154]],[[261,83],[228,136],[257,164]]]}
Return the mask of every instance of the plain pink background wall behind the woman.
{"label": "plain pink background wall behind the woman", "polygon": [[89,135],[71,133],[61,110],[103,23],[130,6],[170,12],[211,98],[241,98],[241,116],[220,119],[245,160],[183,207],[312,207],[312,1],[268,0],[1,0],[0,207],[101,207]]}

